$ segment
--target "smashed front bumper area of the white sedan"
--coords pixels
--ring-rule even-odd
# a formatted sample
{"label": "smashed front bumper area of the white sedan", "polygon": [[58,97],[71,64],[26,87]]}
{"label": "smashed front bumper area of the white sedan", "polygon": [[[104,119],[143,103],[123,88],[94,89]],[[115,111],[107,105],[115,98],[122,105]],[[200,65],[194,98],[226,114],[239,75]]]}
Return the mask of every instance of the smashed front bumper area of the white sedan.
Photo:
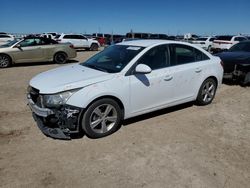
{"label": "smashed front bumper area of the white sedan", "polygon": [[46,136],[70,140],[72,134],[79,133],[79,119],[83,109],[70,105],[50,109],[39,107],[29,94],[27,99],[37,126]]}

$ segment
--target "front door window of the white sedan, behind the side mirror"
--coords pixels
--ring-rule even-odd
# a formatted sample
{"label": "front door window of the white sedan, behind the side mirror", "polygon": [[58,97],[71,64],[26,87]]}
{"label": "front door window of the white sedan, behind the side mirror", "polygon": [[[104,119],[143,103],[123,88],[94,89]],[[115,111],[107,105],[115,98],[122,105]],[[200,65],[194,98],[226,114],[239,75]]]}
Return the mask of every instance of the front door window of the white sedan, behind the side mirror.
{"label": "front door window of the white sedan, behind the side mirror", "polygon": [[161,45],[147,51],[138,61],[138,64],[148,65],[152,70],[168,66],[168,47]]}

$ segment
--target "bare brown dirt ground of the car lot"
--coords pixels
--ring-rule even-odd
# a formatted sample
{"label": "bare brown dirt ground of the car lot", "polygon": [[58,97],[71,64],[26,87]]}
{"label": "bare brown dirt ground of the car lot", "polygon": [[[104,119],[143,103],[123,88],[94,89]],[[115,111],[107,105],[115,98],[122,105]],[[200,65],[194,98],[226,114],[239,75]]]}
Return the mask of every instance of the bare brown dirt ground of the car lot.
{"label": "bare brown dirt ground of the car lot", "polygon": [[102,139],[62,141],[41,133],[25,96],[33,76],[58,66],[0,70],[0,187],[250,186],[250,87],[223,84],[211,105],[133,118]]}

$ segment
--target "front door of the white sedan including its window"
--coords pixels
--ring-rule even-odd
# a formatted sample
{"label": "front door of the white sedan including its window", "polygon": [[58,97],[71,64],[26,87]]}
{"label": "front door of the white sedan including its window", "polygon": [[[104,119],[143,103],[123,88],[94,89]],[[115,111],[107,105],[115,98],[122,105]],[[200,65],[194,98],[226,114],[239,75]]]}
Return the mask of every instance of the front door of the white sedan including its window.
{"label": "front door of the white sedan including its window", "polygon": [[171,101],[173,95],[167,45],[150,49],[138,60],[138,64],[148,65],[152,72],[132,73],[129,76],[131,116],[161,108]]}

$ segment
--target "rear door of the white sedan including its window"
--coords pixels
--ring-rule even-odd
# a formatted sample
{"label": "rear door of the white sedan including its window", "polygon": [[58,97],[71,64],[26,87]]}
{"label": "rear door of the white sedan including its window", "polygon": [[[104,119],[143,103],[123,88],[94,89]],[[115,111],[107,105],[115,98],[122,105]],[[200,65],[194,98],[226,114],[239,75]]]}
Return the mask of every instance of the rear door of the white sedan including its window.
{"label": "rear door of the white sedan including its window", "polygon": [[203,61],[209,59],[203,52],[188,45],[171,44],[170,74],[173,77],[174,101],[189,101],[196,97],[202,82]]}

